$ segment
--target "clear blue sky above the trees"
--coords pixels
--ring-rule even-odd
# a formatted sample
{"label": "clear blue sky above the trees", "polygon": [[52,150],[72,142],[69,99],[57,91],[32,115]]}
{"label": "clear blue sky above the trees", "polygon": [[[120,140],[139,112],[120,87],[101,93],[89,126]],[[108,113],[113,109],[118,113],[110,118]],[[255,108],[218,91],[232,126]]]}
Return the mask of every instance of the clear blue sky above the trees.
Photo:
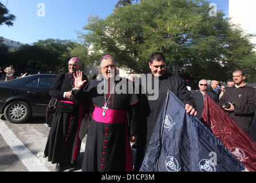
{"label": "clear blue sky above the trees", "polygon": [[[70,39],[78,41],[90,15],[105,18],[115,9],[119,0],[0,0],[17,18],[13,26],[0,26],[0,36],[33,43],[39,39]],[[229,12],[229,0],[211,0],[218,10]],[[45,5],[45,17],[38,17],[39,3]],[[41,13],[41,11],[39,12]]]}

